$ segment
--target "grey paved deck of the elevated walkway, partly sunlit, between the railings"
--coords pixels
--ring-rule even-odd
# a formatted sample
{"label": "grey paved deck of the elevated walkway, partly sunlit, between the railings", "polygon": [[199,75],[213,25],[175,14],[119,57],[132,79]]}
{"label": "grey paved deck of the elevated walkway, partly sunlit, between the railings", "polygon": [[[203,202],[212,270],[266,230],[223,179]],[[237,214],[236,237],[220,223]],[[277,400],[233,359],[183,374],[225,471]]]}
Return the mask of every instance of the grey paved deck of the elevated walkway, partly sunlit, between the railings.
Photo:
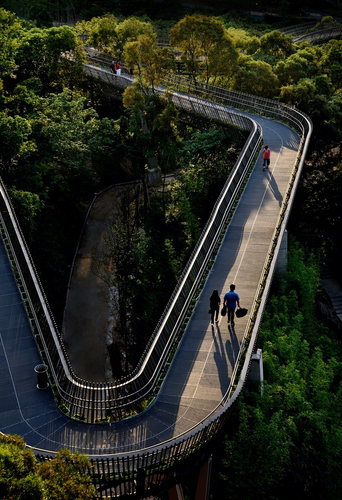
{"label": "grey paved deck of the elevated walkway, partly sunlit, between the railings", "polygon": [[127,453],[183,434],[220,407],[248,316],[236,319],[234,326],[220,316],[212,328],[209,296],[217,288],[223,300],[234,282],[241,306],[251,312],[299,146],[287,125],[249,116],[262,126],[271,149],[270,168],[262,171],[257,159],[164,384],[140,415],[112,424],[77,422],[59,411],[49,390],[36,388],[34,366],[41,361],[1,243],[2,432],[19,433],[30,446],[48,452],[68,446],[94,456]]}

